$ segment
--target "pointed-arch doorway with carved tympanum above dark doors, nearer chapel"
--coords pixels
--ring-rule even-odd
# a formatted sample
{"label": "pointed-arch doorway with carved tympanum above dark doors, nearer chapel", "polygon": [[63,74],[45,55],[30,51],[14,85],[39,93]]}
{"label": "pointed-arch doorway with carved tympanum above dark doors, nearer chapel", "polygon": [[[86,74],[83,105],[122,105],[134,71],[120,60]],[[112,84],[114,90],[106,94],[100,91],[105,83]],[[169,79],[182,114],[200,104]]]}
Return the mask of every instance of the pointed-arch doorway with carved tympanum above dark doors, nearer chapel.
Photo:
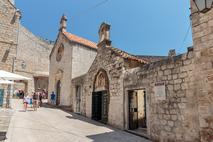
{"label": "pointed-arch doorway with carved tympanum above dark doors, nearer chapel", "polygon": [[107,123],[109,112],[109,80],[105,70],[95,76],[92,94],[92,119]]}

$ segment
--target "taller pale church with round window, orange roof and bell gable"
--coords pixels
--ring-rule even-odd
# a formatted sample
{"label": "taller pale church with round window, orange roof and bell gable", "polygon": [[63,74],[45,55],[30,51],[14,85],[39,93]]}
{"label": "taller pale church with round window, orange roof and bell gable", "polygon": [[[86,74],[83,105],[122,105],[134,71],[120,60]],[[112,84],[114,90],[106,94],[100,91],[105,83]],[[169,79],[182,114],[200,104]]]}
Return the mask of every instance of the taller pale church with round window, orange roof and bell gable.
{"label": "taller pale church with round window, orange roof and bell gable", "polygon": [[71,80],[85,74],[97,54],[96,43],[67,32],[66,27],[63,16],[50,54],[49,92],[57,94],[56,105],[60,106],[71,105]]}

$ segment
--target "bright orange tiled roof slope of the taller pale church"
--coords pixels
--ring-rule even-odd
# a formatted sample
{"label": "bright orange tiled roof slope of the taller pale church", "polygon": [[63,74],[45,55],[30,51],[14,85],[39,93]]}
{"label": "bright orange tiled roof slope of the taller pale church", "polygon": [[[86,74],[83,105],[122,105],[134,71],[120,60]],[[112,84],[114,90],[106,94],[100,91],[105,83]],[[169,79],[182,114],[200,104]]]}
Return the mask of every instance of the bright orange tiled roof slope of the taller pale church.
{"label": "bright orange tiled roof slope of the taller pale church", "polygon": [[71,41],[83,44],[83,45],[91,47],[93,49],[97,49],[97,44],[95,42],[89,41],[85,38],[76,36],[74,34],[71,34],[71,33],[65,32],[65,31],[63,32],[63,34]]}

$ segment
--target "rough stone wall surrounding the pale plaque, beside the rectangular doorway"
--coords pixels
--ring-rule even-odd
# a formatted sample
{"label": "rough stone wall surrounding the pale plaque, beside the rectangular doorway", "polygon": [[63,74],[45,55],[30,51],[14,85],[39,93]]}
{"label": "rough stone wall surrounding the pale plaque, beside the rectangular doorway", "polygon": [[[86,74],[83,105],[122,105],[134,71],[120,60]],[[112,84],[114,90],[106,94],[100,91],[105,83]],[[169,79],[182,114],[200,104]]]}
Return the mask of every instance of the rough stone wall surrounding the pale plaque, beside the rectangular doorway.
{"label": "rough stone wall surrounding the pale plaque, beside the rectangular doorway", "polygon": [[[199,141],[194,94],[194,52],[126,71],[125,125],[128,129],[128,90],[145,89],[148,135],[155,141]],[[166,84],[166,100],[157,100],[154,86]]]}

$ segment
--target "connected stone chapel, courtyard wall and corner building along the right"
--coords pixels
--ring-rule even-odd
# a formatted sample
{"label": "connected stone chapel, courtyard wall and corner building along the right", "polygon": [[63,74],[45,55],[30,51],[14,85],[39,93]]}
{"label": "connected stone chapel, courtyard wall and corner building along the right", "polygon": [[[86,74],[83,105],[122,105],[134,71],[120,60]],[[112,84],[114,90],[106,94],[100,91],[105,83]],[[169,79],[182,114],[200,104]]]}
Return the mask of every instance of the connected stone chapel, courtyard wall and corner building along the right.
{"label": "connected stone chapel, courtyard wall and corner building along the right", "polygon": [[80,96],[81,114],[154,141],[213,141],[213,9],[191,7],[193,47],[154,61],[113,48],[102,24],[93,64],[72,80],[74,111]]}

